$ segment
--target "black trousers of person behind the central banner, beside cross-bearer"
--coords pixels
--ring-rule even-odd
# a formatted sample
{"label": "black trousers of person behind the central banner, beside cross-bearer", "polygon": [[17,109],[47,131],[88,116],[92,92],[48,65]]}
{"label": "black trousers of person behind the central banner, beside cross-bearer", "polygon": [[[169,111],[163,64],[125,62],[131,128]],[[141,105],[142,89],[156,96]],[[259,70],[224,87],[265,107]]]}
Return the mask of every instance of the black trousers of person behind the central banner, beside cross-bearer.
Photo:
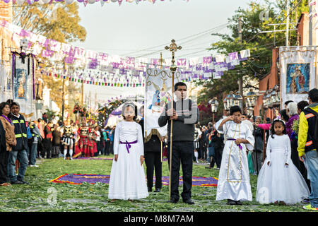
{"label": "black trousers of person behind the central banner, beside cross-bearer", "polygon": [[161,189],[162,186],[162,162],[160,153],[158,152],[145,152],[146,173],[147,173],[147,186],[148,189],[153,187],[153,169],[155,169],[155,188]]}

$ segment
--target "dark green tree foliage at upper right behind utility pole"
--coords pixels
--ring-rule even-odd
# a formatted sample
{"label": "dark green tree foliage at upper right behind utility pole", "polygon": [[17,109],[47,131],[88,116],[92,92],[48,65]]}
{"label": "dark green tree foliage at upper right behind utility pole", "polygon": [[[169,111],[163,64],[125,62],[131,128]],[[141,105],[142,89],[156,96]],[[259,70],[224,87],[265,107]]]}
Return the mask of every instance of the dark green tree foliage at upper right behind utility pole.
{"label": "dark green tree foliage at upper right behind utility pole", "polygon": [[[198,102],[207,105],[208,100],[218,97],[219,109],[223,109],[223,93],[228,94],[230,90],[238,90],[237,81],[243,78],[243,90],[248,88],[258,88],[251,85],[251,81],[258,81],[264,78],[271,70],[272,49],[285,45],[285,32],[261,31],[273,30],[273,23],[286,23],[287,13],[285,11],[285,0],[269,1],[266,0],[262,5],[257,1],[250,1],[247,8],[238,8],[235,14],[228,18],[228,28],[231,35],[220,35],[222,40],[211,44],[211,50],[218,54],[228,54],[239,52],[242,49],[249,49],[251,57],[247,61],[242,61],[240,66],[235,66],[234,70],[225,71],[220,79],[208,81],[196,81],[197,85],[203,85]],[[290,23],[298,22],[302,12],[308,11],[308,1],[290,1]],[[297,6],[297,7],[296,7]],[[295,10],[293,11],[293,8]],[[264,11],[269,12],[269,18],[261,20],[260,14]],[[242,40],[239,38],[238,21],[242,21]],[[290,24],[290,29],[295,25]],[[277,25],[276,30],[285,29],[285,25]],[[296,31],[289,32],[290,45],[297,44]],[[221,112],[218,111],[218,117]]]}

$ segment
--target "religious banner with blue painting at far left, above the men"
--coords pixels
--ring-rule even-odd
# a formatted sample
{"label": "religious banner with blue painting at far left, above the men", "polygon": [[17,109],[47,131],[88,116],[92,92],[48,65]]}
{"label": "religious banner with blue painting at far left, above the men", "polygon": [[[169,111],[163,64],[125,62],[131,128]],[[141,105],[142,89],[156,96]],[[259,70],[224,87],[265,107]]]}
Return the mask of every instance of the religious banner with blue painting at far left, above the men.
{"label": "religious banner with blue painting at far left, above the men", "polygon": [[20,105],[25,119],[35,111],[34,59],[31,55],[12,54],[13,101]]}

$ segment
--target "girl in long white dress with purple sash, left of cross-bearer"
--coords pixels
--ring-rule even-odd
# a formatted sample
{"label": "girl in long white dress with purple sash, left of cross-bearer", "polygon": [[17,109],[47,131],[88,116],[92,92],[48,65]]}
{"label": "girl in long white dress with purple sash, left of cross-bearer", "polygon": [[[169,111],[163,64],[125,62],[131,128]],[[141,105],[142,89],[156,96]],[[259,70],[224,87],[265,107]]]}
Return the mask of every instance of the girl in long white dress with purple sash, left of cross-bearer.
{"label": "girl in long white dress with purple sash, left of cross-bearer", "polygon": [[126,103],[122,108],[124,121],[114,132],[114,160],[110,172],[108,198],[132,200],[146,198],[148,190],[143,170],[143,135],[137,124],[136,107]]}

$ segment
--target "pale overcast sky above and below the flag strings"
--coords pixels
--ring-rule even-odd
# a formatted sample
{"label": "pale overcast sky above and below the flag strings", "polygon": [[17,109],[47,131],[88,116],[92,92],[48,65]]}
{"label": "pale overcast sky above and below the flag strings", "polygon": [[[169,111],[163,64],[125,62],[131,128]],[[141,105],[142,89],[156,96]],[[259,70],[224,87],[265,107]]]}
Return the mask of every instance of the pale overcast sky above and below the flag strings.
{"label": "pale overcast sky above and below the flag strings", "polygon": [[[262,1],[262,0],[261,0]],[[164,49],[172,39],[181,50],[176,58],[210,56],[205,49],[219,40],[211,33],[228,33],[225,28],[237,8],[247,8],[249,0],[165,0],[129,3],[122,6],[110,2],[101,6],[95,4],[80,5],[81,25],[86,28],[85,42],[73,42],[78,47],[117,54],[123,57],[171,58]],[[215,28],[215,29],[213,29]],[[201,35],[197,35],[201,34]],[[152,48],[153,47],[153,48]],[[152,48],[152,49],[149,49]],[[147,49],[147,51],[141,51]],[[151,54],[155,52],[154,54]],[[146,55],[148,54],[148,55]],[[143,93],[142,88],[110,88],[107,86],[85,85],[91,97],[97,94],[98,100],[110,97]]]}

